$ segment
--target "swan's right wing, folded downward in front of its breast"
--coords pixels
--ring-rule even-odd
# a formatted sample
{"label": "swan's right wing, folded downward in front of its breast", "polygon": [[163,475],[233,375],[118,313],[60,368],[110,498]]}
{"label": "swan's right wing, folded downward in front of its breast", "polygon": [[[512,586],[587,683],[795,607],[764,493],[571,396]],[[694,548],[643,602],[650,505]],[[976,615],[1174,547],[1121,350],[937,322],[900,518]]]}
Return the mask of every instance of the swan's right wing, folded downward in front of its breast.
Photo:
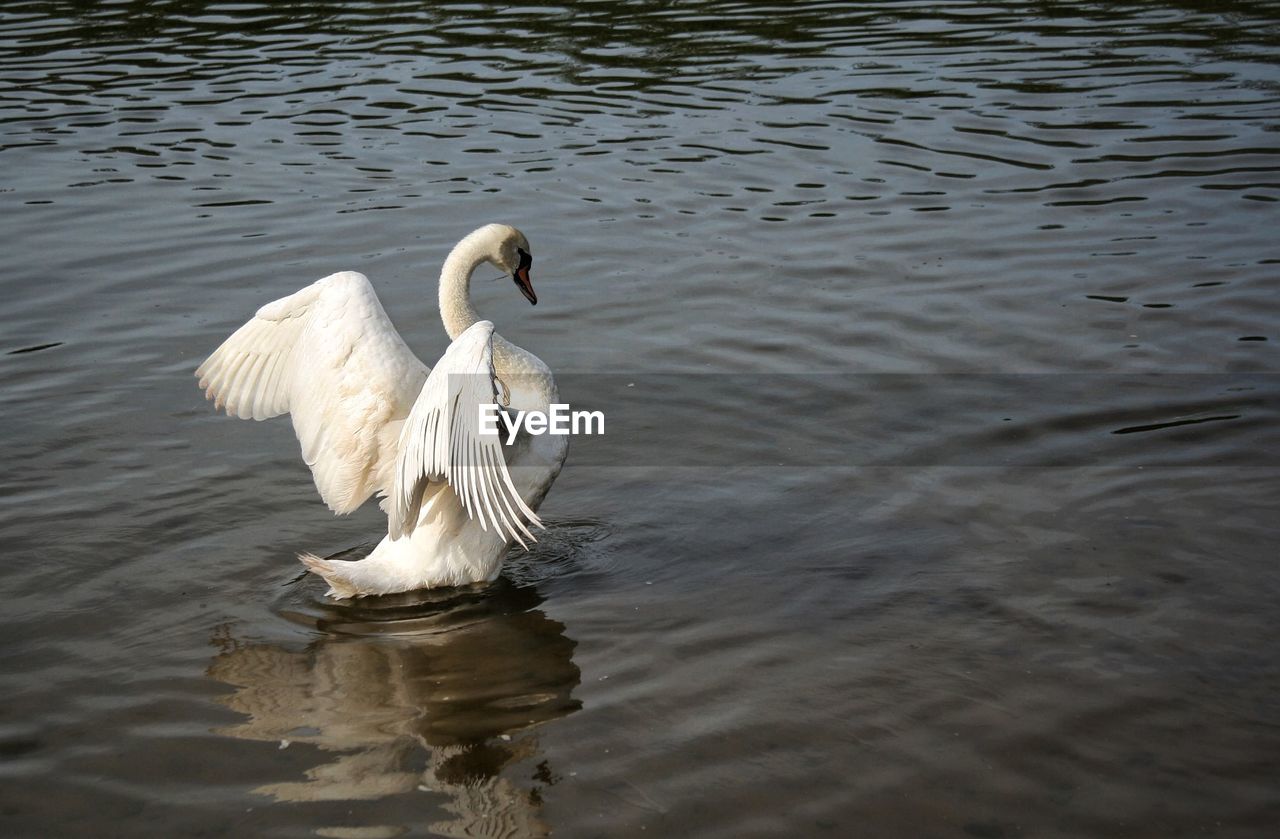
{"label": "swan's right wing, folded downward in front of its breast", "polygon": [[480,320],[444,351],[404,421],[387,511],[393,539],[413,530],[428,485],[445,480],[483,529],[536,541],[525,521],[543,523],[512,484],[499,436],[480,433],[480,406],[495,396],[493,324]]}

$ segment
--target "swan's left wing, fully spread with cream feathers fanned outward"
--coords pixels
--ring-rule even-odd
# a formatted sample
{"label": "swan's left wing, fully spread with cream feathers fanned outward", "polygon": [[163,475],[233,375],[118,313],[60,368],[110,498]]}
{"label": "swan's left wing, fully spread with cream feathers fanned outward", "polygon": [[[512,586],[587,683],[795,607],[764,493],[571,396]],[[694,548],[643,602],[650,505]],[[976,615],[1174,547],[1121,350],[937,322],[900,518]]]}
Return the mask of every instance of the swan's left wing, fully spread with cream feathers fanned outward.
{"label": "swan's left wing, fully spread with cream feathers fanned outward", "polygon": [[196,370],[232,416],[288,411],[316,489],[339,514],[390,487],[401,420],[428,373],[356,272],[262,306]]}

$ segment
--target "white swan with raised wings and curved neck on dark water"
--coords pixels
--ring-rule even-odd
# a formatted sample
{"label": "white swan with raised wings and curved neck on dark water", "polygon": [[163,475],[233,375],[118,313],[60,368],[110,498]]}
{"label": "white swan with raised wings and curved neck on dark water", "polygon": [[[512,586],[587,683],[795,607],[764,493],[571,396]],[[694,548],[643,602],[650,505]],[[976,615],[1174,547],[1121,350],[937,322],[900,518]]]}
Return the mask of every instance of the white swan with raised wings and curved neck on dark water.
{"label": "white swan with raised wings and curved neck on dark water", "polygon": [[[383,497],[387,537],[364,560],[300,560],[337,598],[492,580],[559,474],[567,438],[479,432],[479,406],[547,412],[556,382],[541,359],[493,332],[471,306],[471,274],[490,263],[529,302],[525,236],[489,224],[440,270],[440,319],[453,343],[434,370],[392,325],[369,279],[330,274],[257,310],[200,368],[206,398],[241,419],[288,412],[320,497],[337,514]],[[509,470],[508,470],[509,466]]]}

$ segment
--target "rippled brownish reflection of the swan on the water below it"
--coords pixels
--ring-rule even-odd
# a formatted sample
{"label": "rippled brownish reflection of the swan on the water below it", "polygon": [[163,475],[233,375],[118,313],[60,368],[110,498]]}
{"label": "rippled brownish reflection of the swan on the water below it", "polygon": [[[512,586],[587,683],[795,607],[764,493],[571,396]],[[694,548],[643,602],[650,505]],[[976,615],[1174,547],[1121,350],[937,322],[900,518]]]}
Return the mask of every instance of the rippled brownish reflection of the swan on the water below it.
{"label": "rippled brownish reflection of the swan on the water below it", "polygon": [[[355,605],[288,605],[325,637],[301,649],[237,640],[224,626],[209,675],[247,721],[220,734],[310,743],[333,753],[305,779],[255,792],[284,802],[372,801],[422,789],[449,798],[443,835],[547,835],[536,725],[572,713],[580,680],[564,625],[531,585],[394,594]],[[422,770],[425,753],[426,769]],[[535,784],[503,774],[526,763]]]}

